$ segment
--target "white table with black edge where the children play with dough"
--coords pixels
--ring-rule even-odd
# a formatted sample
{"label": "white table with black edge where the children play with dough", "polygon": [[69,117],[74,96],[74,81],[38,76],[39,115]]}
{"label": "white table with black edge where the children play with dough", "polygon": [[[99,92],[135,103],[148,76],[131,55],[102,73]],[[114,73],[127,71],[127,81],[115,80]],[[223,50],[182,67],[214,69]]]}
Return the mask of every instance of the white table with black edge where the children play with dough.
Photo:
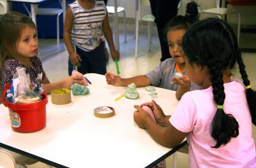
{"label": "white table with black edge where the children play with dough", "polygon": [[[52,104],[48,96],[47,126],[38,132],[13,131],[8,108],[1,104],[0,147],[56,167],[152,167],[154,161],[174,152],[156,143],[133,120],[133,106],[152,100],[145,88],[138,88],[139,99],[115,101],[124,94],[124,87],[107,85],[100,74],[86,77],[92,81],[90,95],[72,96],[72,102],[65,105]],[[166,114],[172,114],[178,103],[175,92],[157,87],[156,92],[155,101]],[[99,106],[115,108],[115,116],[95,117],[93,109]]]}

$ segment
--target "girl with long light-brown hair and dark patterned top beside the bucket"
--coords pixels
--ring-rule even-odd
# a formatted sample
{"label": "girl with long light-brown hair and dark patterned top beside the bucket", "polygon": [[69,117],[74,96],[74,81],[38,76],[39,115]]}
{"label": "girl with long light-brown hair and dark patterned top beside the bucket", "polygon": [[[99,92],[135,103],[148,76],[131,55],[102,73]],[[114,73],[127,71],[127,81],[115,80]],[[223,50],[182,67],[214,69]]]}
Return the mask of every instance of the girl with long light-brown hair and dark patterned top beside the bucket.
{"label": "girl with long light-brown hair and dark patterned top beside the bucket", "polygon": [[[36,83],[37,74],[42,73],[42,83],[46,94],[55,88],[70,88],[73,83],[87,85],[82,74],[76,78],[68,77],[55,83],[49,82],[42,62],[36,56],[38,53],[36,26],[29,17],[14,11],[6,13],[0,18],[0,27],[0,85],[12,82],[16,67],[26,68],[31,83]],[[36,160],[16,153],[12,155],[18,163],[33,164],[36,162]]]}

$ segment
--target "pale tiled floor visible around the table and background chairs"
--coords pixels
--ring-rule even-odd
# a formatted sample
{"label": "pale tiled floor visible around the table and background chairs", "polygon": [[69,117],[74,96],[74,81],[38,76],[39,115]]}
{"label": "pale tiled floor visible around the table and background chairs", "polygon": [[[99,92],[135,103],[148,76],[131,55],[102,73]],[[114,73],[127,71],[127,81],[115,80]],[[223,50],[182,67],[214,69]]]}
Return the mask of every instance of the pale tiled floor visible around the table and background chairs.
{"label": "pale tiled floor visible around the table and background chairs", "polygon": [[[122,25],[122,24],[120,24]],[[152,52],[147,51],[147,27],[140,29],[140,41],[139,41],[139,57],[134,59],[134,33],[132,30],[134,25],[128,25],[129,33],[127,34],[127,43],[124,43],[124,36],[120,34],[120,54],[121,59],[119,62],[120,76],[131,77],[138,74],[145,74],[152,70],[159,64],[160,50],[159,41],[154,30],[152,39]],[[120,29],[121,30],[121,29]],[[256,34],[241,34],[241,46],[256,47]],[[58,81],[68,76],[67,74],[67,59],[68,53],[65,50],[65,46],[61,43],[61,49],[58,51],[56,48],[56,39],[40,39],[40,58],[43,62],[43,67],[50,81]],[[248,76],[251,80],[252,87],[256,89],[256,53],[243,53],[244,63]],[[115,62],[109,59],[107,66],[108,71],[116,73]],[[239,71],[234,72],[234,76],[240,78]],[[256,137],[256,129],[253,126],[253,137]],[[172,167],[172,157],[167,158],[168,167]],[[47,165],[40,162],[28,165],[28,167],[47,167]],[[189,167],[188,155],[178,153],[177,155],[177,167],[186,168]]]}

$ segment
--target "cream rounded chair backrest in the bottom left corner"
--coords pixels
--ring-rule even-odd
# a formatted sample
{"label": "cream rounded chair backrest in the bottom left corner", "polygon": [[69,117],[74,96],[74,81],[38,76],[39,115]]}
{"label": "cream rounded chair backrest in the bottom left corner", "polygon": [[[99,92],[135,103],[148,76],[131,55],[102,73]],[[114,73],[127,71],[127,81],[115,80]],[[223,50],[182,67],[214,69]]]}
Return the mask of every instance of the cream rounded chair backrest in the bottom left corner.
{"label": "cream rounded chair backrest in the bottom left corner", "polygon": [[0,150],[0,167],[16,168],[16,162],[10,153]]}

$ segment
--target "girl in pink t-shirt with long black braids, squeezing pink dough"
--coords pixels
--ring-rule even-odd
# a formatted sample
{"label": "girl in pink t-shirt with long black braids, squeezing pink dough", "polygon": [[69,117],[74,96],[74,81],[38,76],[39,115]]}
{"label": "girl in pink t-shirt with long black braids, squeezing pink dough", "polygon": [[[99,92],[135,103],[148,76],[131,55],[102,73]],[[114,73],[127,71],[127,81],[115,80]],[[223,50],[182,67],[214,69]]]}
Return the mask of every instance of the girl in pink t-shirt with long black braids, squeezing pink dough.
{"label": "girl in pink t-shirt with long black braids, squeezing pink dough", "polygon": [[[170,148],[187,137],[191,167],[256,167],[251,123],[256,125],[256,97],[234,31],[223,20],[198,21],[182,46],[186,72],[203,89],[184,94],[171,117],[154,101],[144,104],[154,110],[157,123],[134,106],[134,121]],[[232,78],[236,62],[243,83]]]}

